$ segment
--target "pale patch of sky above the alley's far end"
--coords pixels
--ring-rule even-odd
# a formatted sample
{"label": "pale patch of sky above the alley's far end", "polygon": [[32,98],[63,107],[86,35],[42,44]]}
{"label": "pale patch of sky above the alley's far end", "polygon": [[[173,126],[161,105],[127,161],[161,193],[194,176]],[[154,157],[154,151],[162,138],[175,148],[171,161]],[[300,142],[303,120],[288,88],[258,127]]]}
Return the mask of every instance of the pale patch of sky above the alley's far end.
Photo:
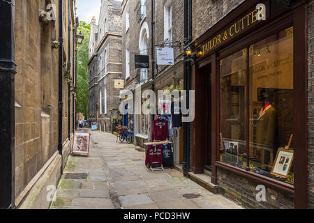
{"label": "pale patch of sky above the alley's far end", "polygon": [[[122,0],[117,0],[122,1]],[[77,16],[80,21],[91,22],[93,16],[96,17],[98,24],[98,17],[100,13],[101,0],[77,0]]]}

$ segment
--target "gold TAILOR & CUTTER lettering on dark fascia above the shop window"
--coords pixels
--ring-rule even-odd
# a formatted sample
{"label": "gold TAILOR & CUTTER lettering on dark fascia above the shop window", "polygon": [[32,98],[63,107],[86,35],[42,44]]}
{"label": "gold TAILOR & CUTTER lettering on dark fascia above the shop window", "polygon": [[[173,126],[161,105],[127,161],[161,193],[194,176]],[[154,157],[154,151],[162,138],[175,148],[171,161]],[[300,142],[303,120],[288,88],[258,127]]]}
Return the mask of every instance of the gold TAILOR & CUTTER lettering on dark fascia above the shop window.
{"label": "gold TAILOR & CUTTER lettering on dark fascia above the shop window", "polygon": [[263,22],[264,20],[258,20],[258,15],[261,13],[264,14],[265,11],[266,9],[264,8],[254,9],[244,17],[241,17],[236,22],[230,24],[225,31],[218,33],[218,35],[211,38],[207,43],[201,45],[197,49],[197,55],[204,56],[205,54],[214,51],[218,46],[223,45],[234,37],[239,36],[239,34],[244,33],[249,27],[251,28],[251,26]]}

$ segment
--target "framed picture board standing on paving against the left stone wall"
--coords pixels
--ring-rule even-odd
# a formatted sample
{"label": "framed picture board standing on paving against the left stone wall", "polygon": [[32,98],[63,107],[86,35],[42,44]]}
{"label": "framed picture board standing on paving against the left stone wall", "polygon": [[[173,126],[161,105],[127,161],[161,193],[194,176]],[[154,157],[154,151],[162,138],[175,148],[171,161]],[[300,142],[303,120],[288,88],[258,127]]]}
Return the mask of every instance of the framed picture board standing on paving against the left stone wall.
{"label": "framed picture board standing on paving against the left stone wall", "polygon": [[75,132],[72,146],[72,155],[89,155],[89,132]]}

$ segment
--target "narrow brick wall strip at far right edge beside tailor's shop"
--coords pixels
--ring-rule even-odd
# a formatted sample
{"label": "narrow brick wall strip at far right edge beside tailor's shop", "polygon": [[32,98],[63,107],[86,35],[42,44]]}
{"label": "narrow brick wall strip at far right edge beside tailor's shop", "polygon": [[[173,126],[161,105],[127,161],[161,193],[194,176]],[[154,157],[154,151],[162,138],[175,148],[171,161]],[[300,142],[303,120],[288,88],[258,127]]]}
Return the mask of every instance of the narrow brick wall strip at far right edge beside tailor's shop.
{"label": "narrow brick wall strip at far right edge beside tailor's shop", "polygon": [[314,208],[314,1],[308,2],[308,208]]}

